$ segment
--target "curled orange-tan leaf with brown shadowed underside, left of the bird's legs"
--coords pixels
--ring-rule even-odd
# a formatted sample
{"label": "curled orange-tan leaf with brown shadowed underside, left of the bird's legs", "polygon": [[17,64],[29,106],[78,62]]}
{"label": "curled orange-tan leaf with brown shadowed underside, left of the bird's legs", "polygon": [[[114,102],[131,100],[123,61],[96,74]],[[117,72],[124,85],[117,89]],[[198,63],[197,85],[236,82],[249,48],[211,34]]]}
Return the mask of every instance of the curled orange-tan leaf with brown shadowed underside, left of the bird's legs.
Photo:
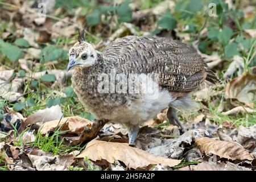
{"label": "curled orange-tan leaf with brown shadowed underside, left of the bird's legs", "polygon": [[53,131],[57,126],[63,125],[61,130],[68,130],[68,133],[80,134],[85,130],[85,127],[91,128],[92,123],[92,121],[79,116],[65,117],[44,123],[44,125],[41,127],[40,133],[43,135],[47,134],[48,131]]}

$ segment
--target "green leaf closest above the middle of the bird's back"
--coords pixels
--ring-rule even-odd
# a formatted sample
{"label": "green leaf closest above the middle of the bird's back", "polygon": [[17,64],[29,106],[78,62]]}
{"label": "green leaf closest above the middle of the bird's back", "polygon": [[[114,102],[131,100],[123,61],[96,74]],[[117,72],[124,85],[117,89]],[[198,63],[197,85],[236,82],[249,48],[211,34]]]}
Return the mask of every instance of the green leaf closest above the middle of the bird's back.
{"label": "green leaf closest above the middle of the bird's back", "polygon": [[159,19],[158,26],[167,30],[174,30],[177,27],[176,19],[172,18],[172,15],[169,11]]}

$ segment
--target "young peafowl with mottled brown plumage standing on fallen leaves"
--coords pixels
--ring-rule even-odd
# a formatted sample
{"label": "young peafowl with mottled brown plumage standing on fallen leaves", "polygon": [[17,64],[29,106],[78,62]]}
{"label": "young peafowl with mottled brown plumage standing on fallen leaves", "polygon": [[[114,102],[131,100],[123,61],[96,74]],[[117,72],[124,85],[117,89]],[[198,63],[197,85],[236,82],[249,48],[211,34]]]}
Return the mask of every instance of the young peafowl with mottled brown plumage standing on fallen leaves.
{"label": "young peafowl with mottled brown plumage standing on fallen leaves", "polygon": [[[168,106],[169,119],[179,123],[175,108],[189,105],[187,94],[205,79],[218,80],[195,49],[167,38],[126,36],[110,43],[102,53],[80,38],[69,50],[69,59],[68,69],[78,65],[72,85],[85,109],[97,119],[125,123],[130,130],[130,144],[134,143],[138,126]],[[130,73],[145,77],[158,74],[159,81],[152,81],[154,88],[159,85],[158,97],[153,100],[142,92],[129,93],[129,88],[125,88],[127,93],[99,93],[98,75],[110,76],[113,70],[127,77]],[[119,81],[115,80],[115,84]]]}

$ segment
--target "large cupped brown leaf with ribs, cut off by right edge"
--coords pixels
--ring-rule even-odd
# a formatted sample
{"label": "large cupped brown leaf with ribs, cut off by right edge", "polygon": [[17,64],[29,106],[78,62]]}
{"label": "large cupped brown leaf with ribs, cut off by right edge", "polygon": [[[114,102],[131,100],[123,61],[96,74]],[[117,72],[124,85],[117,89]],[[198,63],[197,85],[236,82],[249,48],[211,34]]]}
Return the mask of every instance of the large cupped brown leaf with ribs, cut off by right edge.
{"label": "large cupped brown leaf with ribs, cut off by right edge", "polygon": [[234,78],[226,87],[225,97],[236,98],[238,101],[253,107],[252,101],[256,100],[256,75],[246,73]]}

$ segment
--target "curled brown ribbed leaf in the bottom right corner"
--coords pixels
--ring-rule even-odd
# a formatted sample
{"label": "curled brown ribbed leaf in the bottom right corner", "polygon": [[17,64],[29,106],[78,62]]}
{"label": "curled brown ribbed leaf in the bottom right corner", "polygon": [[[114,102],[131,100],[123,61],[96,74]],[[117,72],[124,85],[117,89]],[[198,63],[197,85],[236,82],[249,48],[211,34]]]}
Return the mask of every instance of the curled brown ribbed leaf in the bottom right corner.
{"label": "curled brown ribbed leaf in the bottom right corner", "polygon": [[196,139],[197,147],[206,155],[215,154],[220,158],[231,160],[253,160],[253,156],[240,144],[214,140],[210,138]]}

